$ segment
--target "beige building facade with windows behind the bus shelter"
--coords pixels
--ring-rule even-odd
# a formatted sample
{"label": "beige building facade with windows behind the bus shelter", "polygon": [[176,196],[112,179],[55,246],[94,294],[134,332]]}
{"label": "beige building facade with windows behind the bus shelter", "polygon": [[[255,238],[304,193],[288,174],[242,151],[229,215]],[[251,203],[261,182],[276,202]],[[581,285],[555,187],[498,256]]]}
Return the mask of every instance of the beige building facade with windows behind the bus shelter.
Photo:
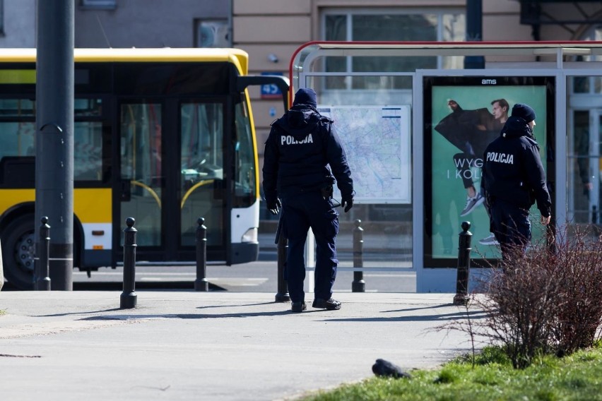
{"label": "beige building facade with windows behind the bus shelter", "polygon": [[[295,49],[313,40],[464,41],[466,5],[466,0],[374,0],[370,5],[363,0],[232,0],[232,44],[249,52],[250,73],[288,76]],[[602,24],[599,1],[482,1],[482,13],[487,41],[594,40]],[[263,143],[280,104],[261,100],[259,90],[252,98]]]}

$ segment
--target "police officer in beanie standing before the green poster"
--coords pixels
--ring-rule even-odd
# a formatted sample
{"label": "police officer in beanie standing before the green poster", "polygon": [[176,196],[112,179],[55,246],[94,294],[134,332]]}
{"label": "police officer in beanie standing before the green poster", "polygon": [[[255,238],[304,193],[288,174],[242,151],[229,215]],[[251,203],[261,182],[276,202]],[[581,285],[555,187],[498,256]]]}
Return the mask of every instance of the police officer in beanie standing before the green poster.
{"label": "police officer in beanie standing before the green poster", "polygon": [[500,136],[483,155],[483,179],[490,213],[491,231],[500,242],[502,257],[512,246],[523,251],[531,240],[529,208],[537,202],[541,224],[550,223],[552,201],[533,136],[535,111],[526,104],[514,104],[512,116]]}

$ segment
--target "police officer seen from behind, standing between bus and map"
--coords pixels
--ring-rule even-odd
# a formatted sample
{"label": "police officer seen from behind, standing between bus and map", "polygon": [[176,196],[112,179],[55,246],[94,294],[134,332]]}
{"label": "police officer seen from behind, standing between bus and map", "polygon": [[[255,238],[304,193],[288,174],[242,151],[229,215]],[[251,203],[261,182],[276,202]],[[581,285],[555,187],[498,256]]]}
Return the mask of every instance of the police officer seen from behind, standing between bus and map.
{"label": "police officer seen from behind, standing between bus and map", "polygon": [[[333,121],[317,112],[316,92],[302,88],[293,107],[272,128],[264,152],[264,193],[268,211],[282,208],[281,235],[288,239],[285,277],[293,312],[305,311],[305,240],[316,239],[314,302],[318,309],[341,309],[332,299],[336,278],[338,212],[332,199],[336,182],[341,206],[353,206],[353,180]],[[335,181],[336,179],[336,181]],[[278,199],[281,198],[281,201]]]}

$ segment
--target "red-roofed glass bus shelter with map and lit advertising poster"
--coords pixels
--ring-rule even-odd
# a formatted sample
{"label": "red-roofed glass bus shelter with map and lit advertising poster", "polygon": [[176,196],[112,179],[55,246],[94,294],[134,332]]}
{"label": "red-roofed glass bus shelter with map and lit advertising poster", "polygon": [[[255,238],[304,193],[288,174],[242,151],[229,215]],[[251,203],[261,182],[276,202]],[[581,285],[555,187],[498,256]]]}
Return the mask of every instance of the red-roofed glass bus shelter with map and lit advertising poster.
{"label": "red-roofed glass bus shelter with map and lit advertising poster", "polygon": [[[500,258],[478,199],[483,150],[515,103],[536,110],[552,229],[596,227],[601,61],[602,42],[309,42],[297,49],[290,96],[314,88],[319,111],[334,119],[345,144],[358,207],[341,214],[341,227],[362,220],[364,271],[413,270],[416,292],[455,292],[459,233],[468,221],[469,290],[476,288]],[[535,205],[531,219],[533,241],[543,239]]]}

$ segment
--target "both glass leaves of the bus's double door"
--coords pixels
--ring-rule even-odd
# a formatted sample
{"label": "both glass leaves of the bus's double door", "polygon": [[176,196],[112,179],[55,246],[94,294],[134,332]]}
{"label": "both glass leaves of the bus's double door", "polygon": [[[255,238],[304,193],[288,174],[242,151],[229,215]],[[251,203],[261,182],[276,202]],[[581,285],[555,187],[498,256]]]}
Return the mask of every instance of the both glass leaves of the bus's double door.
{"label": "both glass leaves of the bus's double door", "polygon": [[119,104],[119,226],[134,217],[138,261],[194,261],[205,218],[207,258],[225,261],[224,103],[176,99]]}

